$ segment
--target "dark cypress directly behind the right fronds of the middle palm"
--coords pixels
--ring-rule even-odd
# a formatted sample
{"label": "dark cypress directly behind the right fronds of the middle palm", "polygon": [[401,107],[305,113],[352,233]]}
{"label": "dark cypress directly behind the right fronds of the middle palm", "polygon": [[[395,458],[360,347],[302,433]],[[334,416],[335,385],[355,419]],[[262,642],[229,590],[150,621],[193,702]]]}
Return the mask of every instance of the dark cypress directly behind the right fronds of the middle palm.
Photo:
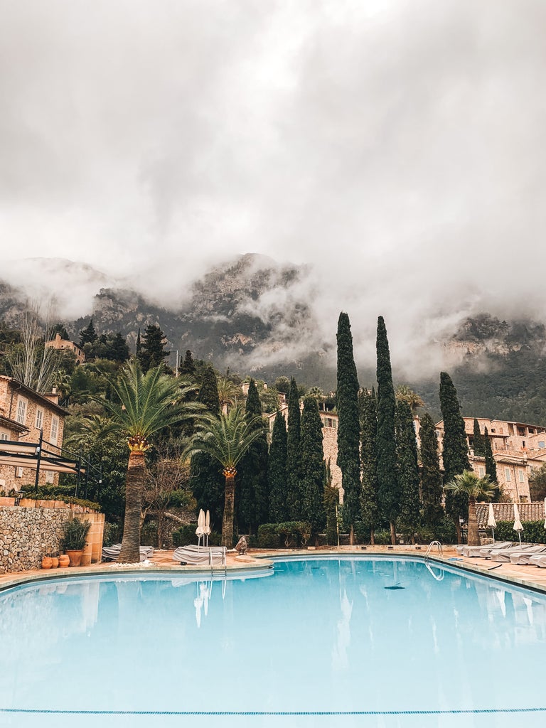
{"label": "dark cypress directly behind the right fronds of the middle palm", "polygon": [[[250,379],[245,412],[248,419],[262,414],[256,382]],[[256,427],[263,427],[257,424]],[[248,453],[237,467],[236,513],[237,523],[245,533],[255,533],[261,523],[267,523],[269,516],[269,493],[267,489],[267,436],[254,440]]]}

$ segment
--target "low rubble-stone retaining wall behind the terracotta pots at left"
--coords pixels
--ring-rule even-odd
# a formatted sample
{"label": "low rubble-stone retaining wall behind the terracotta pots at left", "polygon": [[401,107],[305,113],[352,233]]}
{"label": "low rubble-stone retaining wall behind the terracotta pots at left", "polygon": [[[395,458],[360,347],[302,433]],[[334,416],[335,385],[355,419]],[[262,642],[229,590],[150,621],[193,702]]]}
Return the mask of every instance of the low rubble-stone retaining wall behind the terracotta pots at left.
{"label": "low rubble-stone retaining wall behind the terracotta pots at left", "polygon": [[[9,500],[1,499],[4,503]],[[30,501],[28,507],[23,502],[0,505],[0,574],[39,569],[43,556],[59,552],[62,524],[74,517],[91,521],[82,566],[98,563],[103,547],[103,513],[58,501]]]}

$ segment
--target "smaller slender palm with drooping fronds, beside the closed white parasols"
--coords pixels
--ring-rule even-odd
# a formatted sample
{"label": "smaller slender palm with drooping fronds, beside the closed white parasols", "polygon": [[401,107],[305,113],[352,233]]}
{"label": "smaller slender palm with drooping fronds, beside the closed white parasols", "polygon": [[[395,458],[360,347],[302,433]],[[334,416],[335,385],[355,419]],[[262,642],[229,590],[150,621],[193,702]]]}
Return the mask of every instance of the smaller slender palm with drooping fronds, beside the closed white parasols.
{"label": "smaller slender palm with drooping fronds, beside the closed white parasols", "polygon": [[[258,425],[261,425],[258,427]],[[191,440],[186,456],[206,453],[223,467],[226,478],[226,496],[223,505],[222,545],[233,545],[233,513],[235,503],[235,476],[237,464],[254,440],[264,435],[261,416],[248,417],[245,409],[237,405],[219,419],[213,419],[198,428]]]}

